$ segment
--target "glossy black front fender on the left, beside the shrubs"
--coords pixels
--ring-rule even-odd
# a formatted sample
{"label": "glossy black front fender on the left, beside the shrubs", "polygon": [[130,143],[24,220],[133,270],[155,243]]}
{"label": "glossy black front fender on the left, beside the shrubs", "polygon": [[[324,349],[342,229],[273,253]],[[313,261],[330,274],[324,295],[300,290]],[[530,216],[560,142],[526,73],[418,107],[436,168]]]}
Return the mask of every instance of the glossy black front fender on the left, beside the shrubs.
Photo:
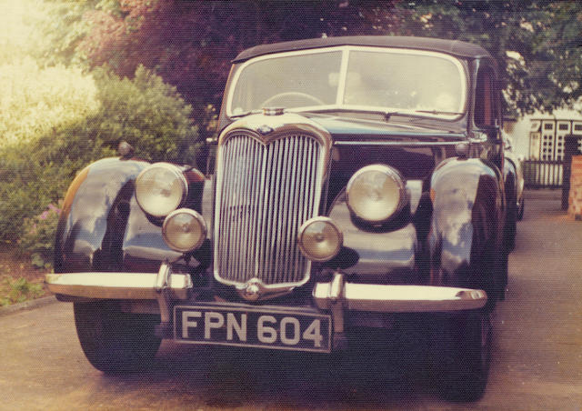
{"label": "glossy black front fender on the left, beside the shrubs", "polygon": [[[164,241],[159,221],[135,201],[135,178],[149,163],[106,158],[88,165],[65,195],[55,238],[55,272],[156,272],[182,254]],[[201,211],[203,185],[190,184],[186,206]]]}

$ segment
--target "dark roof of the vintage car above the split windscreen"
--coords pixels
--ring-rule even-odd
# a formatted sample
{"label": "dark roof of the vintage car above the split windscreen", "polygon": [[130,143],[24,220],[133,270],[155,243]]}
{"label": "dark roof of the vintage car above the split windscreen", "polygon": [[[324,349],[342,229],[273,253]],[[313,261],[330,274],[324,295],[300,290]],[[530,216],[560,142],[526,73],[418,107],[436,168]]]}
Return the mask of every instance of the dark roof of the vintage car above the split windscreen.
{"label": "dark roof of the vintage car above the split windscreen", "polygon": [[296,40],[271,45],[256,45],[247,48],[233,60],[240,63],[257,55],[269,55],[287,51],[307,50],[336,45],[364,45],[376,47],[395,47],[416,50],[428,50],[456,55],[457,57],[483,58],[491,57],[486,49],[458,40],[443,40],[429,37],[397,36],[397,35],[353,35],[343,37],[322,37],[306,40]]}

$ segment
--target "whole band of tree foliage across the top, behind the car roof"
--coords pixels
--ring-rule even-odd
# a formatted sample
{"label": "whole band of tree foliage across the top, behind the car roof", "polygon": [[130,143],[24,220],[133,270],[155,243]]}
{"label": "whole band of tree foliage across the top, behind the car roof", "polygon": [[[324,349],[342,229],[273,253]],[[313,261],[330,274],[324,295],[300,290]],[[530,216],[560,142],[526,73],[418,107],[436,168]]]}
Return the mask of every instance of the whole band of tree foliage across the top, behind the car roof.
{"label": "whole band of tree foliage across the top, behind the car roof", "polygon": [[505,67],[507,103],[520,114],[572,105],[582,95],[582,4],[573,0],[107,0],[87,10],[90,35],[75,53],[119,75],[140,64],[155,70],[194,105],[199,125],[216,114],[207,105],[220,105],[238,52],[322,35],[423,35],[484,45]]}

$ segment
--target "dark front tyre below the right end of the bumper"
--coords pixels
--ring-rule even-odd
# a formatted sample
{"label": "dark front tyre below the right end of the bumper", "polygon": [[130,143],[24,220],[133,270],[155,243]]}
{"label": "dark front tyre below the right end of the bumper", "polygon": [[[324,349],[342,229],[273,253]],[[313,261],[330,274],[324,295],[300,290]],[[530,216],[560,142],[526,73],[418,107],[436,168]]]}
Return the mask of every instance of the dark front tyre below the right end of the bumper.
{"label": "dark front tyre below the right end of the bumper", "polygon": [[448,401],[476,401],[485,393],[491,351],[490,314],[459,313],[437,321],[439,396]]}

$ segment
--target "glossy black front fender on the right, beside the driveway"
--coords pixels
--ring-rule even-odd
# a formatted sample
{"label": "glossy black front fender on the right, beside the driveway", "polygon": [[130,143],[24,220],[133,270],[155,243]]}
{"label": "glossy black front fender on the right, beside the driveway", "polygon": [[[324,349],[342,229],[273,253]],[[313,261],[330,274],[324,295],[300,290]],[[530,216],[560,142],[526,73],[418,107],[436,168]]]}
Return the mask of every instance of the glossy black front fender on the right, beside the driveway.
{"label": "glossy black front fender on the right, beside the driveway", "polygon": [[503,216],[503,179],[484,160],[451,158],[431,179],[430,282],[495,289]]}

